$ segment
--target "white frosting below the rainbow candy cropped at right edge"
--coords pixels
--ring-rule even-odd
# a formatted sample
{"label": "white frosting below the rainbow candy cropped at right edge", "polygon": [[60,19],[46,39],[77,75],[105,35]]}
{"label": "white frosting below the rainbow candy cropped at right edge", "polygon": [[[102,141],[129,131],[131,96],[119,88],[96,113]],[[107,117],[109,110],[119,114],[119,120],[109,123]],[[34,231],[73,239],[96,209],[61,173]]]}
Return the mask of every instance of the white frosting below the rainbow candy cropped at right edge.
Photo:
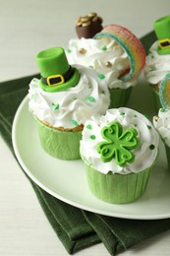
{"label": "white frosting below the rainbow candy cropped at right edge", "polygon": [[153,125],[161,139],[170,147],[170,109],[160,108],[158,116],[153,117]]}

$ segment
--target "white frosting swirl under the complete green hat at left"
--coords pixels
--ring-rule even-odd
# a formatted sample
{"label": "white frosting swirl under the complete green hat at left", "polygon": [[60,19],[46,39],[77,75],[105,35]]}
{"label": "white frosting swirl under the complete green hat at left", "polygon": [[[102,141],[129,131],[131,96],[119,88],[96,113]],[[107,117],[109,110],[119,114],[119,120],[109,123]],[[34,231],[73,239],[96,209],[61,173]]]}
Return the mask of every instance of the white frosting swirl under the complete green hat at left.
{"label": "white frosting swirl under the complete green hat at left", "polygon": [[104,80],[99,79],[94,70],[75,67],[81,73],[80,81],[76,87],[64,92],[44,92],[37,79],[29,84],[29,111],[52,127],[74,128],[85,124],[91,115],[104,114],[110,104]]}

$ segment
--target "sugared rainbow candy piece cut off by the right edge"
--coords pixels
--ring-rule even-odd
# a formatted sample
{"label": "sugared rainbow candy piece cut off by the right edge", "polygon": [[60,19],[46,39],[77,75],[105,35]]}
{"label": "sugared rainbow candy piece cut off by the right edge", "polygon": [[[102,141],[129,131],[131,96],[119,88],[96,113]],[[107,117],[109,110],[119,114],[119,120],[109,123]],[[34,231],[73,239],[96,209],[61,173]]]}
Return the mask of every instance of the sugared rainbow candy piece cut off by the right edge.
{"label": "sugared rainbow candy piece cut off by the right edge", "polygon": [[170,73],[160,82],[159,97],[163,108],[170,108]]}

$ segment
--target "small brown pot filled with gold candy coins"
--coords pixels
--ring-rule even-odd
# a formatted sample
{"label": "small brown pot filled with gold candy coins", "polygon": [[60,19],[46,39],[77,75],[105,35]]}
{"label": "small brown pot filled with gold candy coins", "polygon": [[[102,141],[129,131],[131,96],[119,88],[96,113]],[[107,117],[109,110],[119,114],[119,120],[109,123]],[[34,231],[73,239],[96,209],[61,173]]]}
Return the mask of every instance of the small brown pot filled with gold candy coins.
{"label": "small brown pot filled with gold candy coins", "polygon": [[76,21],[76,32],[79,38],[92,38],[95,33],[102,29],[102,19],[96,13],[89,13]]}

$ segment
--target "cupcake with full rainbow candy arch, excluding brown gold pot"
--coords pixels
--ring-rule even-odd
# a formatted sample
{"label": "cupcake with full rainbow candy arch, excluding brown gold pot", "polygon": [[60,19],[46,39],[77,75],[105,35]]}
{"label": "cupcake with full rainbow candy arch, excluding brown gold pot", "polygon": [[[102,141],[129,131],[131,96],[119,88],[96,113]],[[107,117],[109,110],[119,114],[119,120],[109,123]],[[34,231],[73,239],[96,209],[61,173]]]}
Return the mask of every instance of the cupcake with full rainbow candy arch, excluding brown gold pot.
{"label": "cupcake with full rainbow candy arch, excluding brown gold pot", "polygon": [[127,105],[145,64],[141,41],[118,25],[105,26],[92,38],[82,34],[81,38],[71,39],[66,54],[71,64],[90,67],[105,80],[110,91],[110,108]]}

